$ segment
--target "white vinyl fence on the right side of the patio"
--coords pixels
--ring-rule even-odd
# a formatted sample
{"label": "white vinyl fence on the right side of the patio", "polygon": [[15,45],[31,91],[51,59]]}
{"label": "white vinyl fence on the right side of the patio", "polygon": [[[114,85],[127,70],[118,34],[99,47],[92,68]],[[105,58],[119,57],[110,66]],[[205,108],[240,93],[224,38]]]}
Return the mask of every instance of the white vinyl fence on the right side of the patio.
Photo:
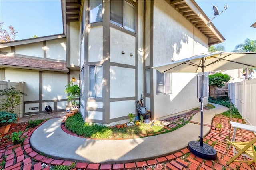
{"label": "white vinyl fence on the right side of the patio", "polygon": [[228,94],[245,122],[256,126],[256,79],[230,83]]}

